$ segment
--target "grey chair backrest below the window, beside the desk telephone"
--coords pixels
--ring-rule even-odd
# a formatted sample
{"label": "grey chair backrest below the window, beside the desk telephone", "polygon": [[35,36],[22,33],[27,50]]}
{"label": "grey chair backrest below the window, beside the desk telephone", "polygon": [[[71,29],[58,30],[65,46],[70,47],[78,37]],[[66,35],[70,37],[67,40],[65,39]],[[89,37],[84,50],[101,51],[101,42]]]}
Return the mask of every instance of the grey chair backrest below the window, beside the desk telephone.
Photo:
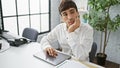
{"label": "grey chair backrest below the window, beside the desk telephone", "polygon": [[35,41],[37,41],[38,34],[39,34],[38,31],[35,29],[25,28],[23,30],[22,36],[35,42]]}

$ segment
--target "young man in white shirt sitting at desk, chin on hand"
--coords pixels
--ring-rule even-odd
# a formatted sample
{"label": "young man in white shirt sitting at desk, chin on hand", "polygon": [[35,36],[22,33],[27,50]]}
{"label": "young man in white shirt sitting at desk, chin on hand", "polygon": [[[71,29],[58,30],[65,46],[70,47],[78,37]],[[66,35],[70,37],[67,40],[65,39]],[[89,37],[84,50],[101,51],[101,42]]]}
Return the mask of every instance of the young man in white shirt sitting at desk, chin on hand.
{"label": "young man in white shirt sitting at desk, chin on hand", "polygon": [[48,55],[56,57],[56,50],[51,43],[57,40],[62,52],[79,60],[88,60],[93,43],[92,27],[81,23],[77,6],[73,1],[62,1],[59,12],[64,23],[59,24],[46,37],[43,37],[42,49]]}

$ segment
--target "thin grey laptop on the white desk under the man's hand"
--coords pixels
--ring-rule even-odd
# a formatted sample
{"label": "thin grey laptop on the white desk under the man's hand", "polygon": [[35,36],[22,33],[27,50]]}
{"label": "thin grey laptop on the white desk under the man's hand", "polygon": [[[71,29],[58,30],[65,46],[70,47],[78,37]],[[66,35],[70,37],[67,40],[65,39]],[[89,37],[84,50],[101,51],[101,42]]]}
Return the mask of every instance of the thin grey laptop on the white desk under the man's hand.
{"label": "thin grey laptop on the white desk under the man's hand", "polygon": [[64,54],[60,51],[57,51],[57,54],[58,55],[56,57],[51,57],[48,54],[46,54],[45,52],[41,51],[41,52],[35,53],[33,56],[40,59],[40,60],[43,60],[47,63],[50,63],[54,66],[56,66],[56,65],[64,62],[65,60],[68,60],[71,58],[70,55]]}

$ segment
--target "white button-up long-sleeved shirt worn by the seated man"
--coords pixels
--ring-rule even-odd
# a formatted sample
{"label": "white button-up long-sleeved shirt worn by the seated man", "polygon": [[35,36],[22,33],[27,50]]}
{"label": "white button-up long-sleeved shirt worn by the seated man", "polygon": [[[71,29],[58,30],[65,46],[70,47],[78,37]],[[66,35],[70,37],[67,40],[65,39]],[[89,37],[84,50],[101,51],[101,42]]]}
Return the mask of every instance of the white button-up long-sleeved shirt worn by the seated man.
{"label": "white button-up long-sleeved shirt worn by the seated man", "polygon": [[42,38],[41,46],[43,49],[51,47],[54,41],[59,42],[62,52],[79,60],[88,60],[93,43],[93,28],[87,23],[81,23],[74,32],[68,33],[66,23],[61,23]]}

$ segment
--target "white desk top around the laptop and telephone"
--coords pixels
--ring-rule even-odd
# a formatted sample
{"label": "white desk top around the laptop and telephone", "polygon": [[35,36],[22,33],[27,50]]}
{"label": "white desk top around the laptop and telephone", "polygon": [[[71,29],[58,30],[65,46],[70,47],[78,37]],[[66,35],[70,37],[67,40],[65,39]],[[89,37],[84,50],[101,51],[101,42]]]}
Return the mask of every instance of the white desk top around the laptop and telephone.
{"label": "white desk top around the laptop and telephone", "polygon": [[[10,47],[8,50],[0,53],[0,68],[56,68],[33,56],[38,52],[40,44],[32,42],[19,47]],[[84,62],[85,64],[92,64]],[[94,65],[94,64],[92,64]],[[95,65],[96,66],[96,65]],[[94,68],[100,68],[100,66]],[[93,68],[92,67],[92,68]]]}

